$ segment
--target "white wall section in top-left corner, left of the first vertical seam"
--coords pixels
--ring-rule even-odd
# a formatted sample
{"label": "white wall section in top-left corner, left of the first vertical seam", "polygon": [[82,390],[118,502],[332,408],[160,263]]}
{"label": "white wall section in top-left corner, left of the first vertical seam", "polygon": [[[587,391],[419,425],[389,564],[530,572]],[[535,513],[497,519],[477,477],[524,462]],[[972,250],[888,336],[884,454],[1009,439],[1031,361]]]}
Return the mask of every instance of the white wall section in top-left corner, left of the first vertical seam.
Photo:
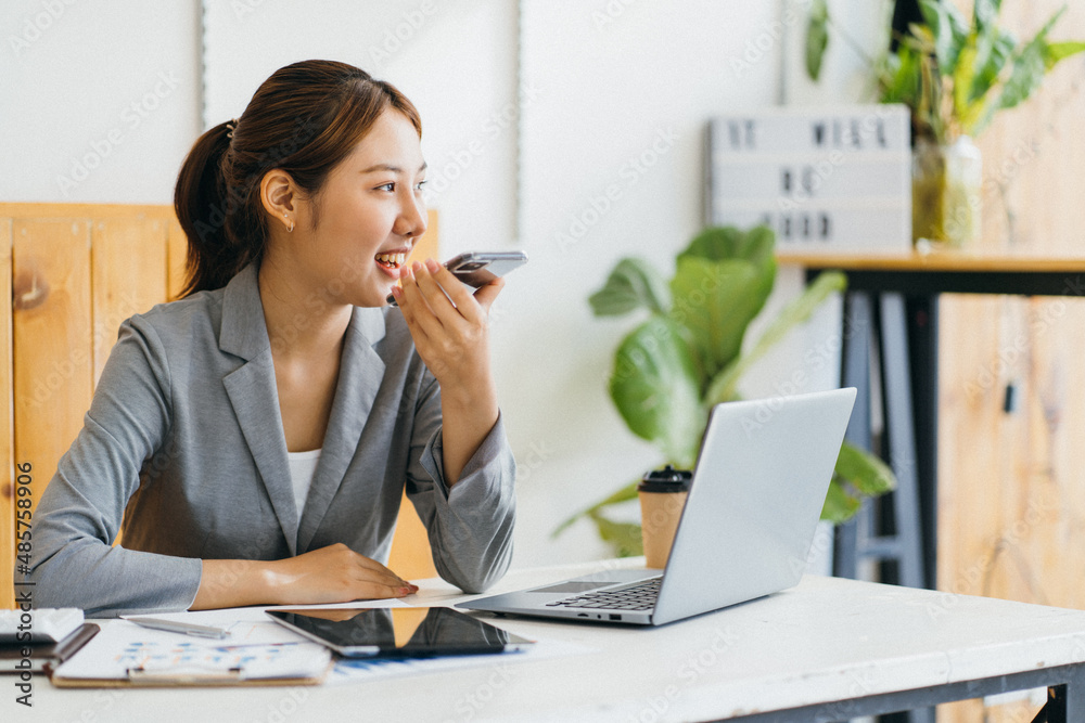
{"label": "white wall section in top-left corner, left of the first vertical seam", "polygon": [[165,204],[199,127],[192,0],[0,3],[0,199]]}

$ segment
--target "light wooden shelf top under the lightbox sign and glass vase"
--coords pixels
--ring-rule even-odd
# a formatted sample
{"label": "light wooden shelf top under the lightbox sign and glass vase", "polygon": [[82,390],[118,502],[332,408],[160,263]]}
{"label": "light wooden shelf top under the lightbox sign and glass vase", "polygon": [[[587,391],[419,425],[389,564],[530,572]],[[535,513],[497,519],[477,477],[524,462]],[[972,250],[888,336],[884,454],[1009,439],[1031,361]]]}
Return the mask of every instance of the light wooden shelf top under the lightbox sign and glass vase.
{"label": "light wooden shelf top under the lightbox sign and glass vase", "polygon": [[1014,273],[1085,273],[1082,256],[1046,257],[1026,254],[931,251],[929,254],[794,254],[776,255],[779,263],[807,269],[845,271],[950,271]]}

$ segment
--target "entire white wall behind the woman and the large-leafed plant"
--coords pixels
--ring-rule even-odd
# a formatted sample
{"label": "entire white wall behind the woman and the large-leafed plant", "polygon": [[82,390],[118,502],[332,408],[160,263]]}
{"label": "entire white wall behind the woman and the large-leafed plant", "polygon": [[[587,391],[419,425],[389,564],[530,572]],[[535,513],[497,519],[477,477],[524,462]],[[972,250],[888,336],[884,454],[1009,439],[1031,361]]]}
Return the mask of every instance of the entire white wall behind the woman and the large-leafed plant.
{"label": "entire white wall behind the woman and the large-leafed plant", "polygon": [[[669,275],[702,223],[705,119],[783,93],[784,49],[803,31],[787,3],[806,4],[524,0],[518,78],[509,0],[317,0],[304,13],[285,0],[212,2],[206,48],[195,0],[9,0],[0,7],[0,199],[169,203],[196,134],[240,114],[275,68],[332,57],[391,80],[422,113],[446,253],[519,246],[532,257],[510,277],[493,328],[521,463],[516,564],[598,557],[605,551],[590,526],[557,541],[550,532],[659,456],[605,393],[631,320],[592,319],[587,297],[622,256],[643,256]],[[854,65],[830,57],[829,75],[839,63]],[[839,73],[828,96],[807,89],[796,100],[854,100]],[[520,137],[518,92],[526,93]],[[97,167],[75,180],[73,167],[95,155]],[[781,271],[770,306],[800,283]],[[746,393],[776,392],[794,360],[833,333],[827,310],[751,376]],[[812,388],[832,384],[829,373]]]}

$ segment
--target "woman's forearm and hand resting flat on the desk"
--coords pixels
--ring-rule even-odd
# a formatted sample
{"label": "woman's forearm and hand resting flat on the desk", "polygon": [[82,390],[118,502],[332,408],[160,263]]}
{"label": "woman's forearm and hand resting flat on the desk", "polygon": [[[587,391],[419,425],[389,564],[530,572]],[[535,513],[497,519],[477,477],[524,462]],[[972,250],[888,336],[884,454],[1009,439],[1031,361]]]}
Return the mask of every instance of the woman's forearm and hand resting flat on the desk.
{"label": "woman's forearm and hand resting flat on the desk", "polygon": [[205,559],[200,590],[189,609],[346,603],[414,592],[418,585],[336,543],[272,561]]}

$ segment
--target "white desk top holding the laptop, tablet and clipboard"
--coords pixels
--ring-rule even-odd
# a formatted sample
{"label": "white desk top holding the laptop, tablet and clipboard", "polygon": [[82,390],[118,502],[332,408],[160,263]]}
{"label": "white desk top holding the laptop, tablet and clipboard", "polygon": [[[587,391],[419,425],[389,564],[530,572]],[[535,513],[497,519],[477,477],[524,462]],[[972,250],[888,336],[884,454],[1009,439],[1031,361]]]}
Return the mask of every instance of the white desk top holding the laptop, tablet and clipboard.
{"label": "white desk top holding the laptop, tablet and clipboard", "polygon": [[[607,565],[629,560],[513,571],[496,590]],[[425,581],[413,602],[464,598]],[[807,577],[767,598],[656,629],[494,622],[590,650],[319,687],[79,690],[36,676],[30,711],[14,702],[4,676],[0,720],[832,721],[1061,684],[1068,720],[1085,720],[1085,611]]]}

